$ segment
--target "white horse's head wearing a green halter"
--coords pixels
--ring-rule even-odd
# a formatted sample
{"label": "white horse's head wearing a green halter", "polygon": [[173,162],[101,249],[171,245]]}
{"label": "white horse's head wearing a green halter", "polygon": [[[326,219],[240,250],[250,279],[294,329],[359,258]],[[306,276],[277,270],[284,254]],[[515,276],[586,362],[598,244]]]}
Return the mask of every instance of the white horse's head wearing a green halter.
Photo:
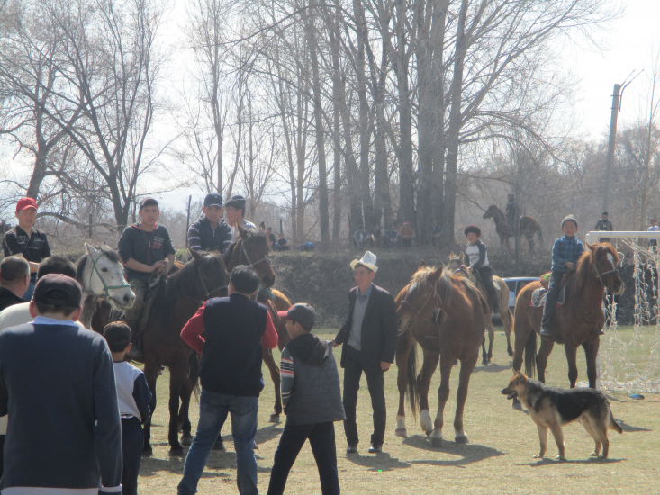
{"label": "white horse's head wearing a green halter", "polygon": [[92,328],[92,317],[99,297],[104,297],[118,311],[128,310],[135,301],[131,285],[123,277],[119,254],[106,246],[91,247],[77,260],[77,281],[83,288],[83,313],[80,323]]}

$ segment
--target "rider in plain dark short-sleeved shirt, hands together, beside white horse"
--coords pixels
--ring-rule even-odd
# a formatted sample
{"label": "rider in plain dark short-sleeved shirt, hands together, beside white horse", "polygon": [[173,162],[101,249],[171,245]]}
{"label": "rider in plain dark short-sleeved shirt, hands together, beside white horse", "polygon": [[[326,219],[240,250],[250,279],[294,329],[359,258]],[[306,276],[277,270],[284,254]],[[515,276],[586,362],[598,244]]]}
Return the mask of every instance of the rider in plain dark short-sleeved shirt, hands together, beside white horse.
{"label": "rider in plain dark short-sleeved shirt, hands together, beside white horse", "polygon": [[140,201],[139,215],[140,222],[126,227],[119,239],[124,275],[135,294],[132,308],[124,311],[122,318],[131,327],[135,344],[131,357],[135,358],[140,358],[140,313],[147,301],[149,279],[152,274],[162,272],[167,275],[174,266],[175,253],[169,232],[165,226],[158,225],[158,201],[151,197],[144,198]]}

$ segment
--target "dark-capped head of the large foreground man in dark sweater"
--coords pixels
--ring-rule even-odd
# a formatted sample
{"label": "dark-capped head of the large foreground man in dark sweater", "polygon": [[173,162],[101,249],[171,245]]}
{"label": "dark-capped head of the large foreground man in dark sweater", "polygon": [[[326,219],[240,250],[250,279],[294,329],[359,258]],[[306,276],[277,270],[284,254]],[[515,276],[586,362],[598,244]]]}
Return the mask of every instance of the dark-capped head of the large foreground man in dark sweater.
{"label": "dark-capped head of the large foreground man in dark sweater", "polygon": [[30,314],[32,317],[48,315],[56,320],[77,320],[82,311],[82,298],[80,284],[70,276],[45,275],[34,287]]}

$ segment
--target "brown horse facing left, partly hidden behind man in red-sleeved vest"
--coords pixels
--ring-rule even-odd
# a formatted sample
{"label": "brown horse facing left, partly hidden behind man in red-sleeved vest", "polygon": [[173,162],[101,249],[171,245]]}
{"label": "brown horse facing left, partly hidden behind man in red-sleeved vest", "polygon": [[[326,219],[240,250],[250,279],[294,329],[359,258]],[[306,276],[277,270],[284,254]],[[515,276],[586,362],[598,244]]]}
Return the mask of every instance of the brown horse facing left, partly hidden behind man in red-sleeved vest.
{"label": "brown horse facing left, partly hidden behind man in red-sleeved vest", "polygon": [[[273,267],[270,266],[268,261],[270,248],[267,245],[266,234],[262,229],[243,229],[240,225],[239,233],[239,238],[231,244],[223,255],[227,271],[231,273],[235,266],[249,265],[259,275],[261,285],[266,289],[270,289],[275,284],[275,272],[273,272]],[[259,291],[257,301],[266,306],[270,312],[270,317],[277,329],[277,347],[281,351],[289,341],[289,334],[286,333],[285,321],[281,321],[277,317],[277,311],[288,310],[291,308],[291,302],[283,293],[275,289],[271,290],[270,293],[273,294],[275,301],[263,297],[261,291]],[[270,415],[270,422],[276,423],[279,421],[280,414],[282,414],[280,370],[270,349],[264,347],[262,356],[270,373],[270,378],[275,385],[275,407]]]}

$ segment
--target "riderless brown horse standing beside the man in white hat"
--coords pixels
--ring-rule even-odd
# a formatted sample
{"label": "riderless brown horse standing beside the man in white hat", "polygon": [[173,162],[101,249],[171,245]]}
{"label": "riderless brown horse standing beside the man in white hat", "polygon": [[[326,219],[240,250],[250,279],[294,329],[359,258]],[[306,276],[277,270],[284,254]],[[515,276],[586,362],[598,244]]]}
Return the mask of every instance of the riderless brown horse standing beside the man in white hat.
{"label": "riderless brown horse standing beside the man in white hat", "polygon": [[[449,375],[454,362],[459,360],[461,368],[454,430],[455,441],[465,444],[467,437],[463,429],[463,410],[470,375],[475,369],[479,346],[484,340],[484,314],[488,311],[488,305],[475,285],[466,278],[443,274],[442,266],[438,269],[428,268],[423,262],[412,276],[411,283],[399,293],[397,301],[399,305],[396,314],[402,332],[400,339],[410,340],[404,336],[411,332],[412,338],[424,348],[424,370],[417,380],[414,379],[414,374],[408,375],[411,409],[414,410],[419,393],[421,428],[430,436],[431,446],[441,446],[443,414],[449,397]],[[430,322],[429,319],[436,310],[439,312],[436,312],[435,322]],[[432,371],[438,364],[438,356],[438,414],[435,422],[431,424],[428,392]],[[397,360],[397,365],[398,363]],[[400,373],[402,369],[411,371],[407,364],[399,368]],[[405,431],[405,413],[401,408],[397,416],[397,430]]]}

